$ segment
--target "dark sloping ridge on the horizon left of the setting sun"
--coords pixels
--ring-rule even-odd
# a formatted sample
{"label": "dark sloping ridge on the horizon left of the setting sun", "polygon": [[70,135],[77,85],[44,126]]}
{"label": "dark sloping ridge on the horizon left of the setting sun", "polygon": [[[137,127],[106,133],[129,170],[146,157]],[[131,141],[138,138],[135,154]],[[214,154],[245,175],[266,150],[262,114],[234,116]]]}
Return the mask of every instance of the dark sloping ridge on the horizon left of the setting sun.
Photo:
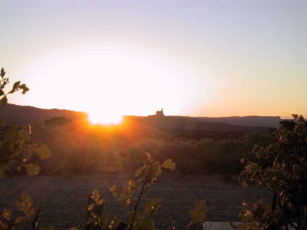
{"label": "dark sloping ridge on the horizon left of the setting sun", "polygon": [[16,122],[20,125],[42,122],[53,117],[67,117],[71,119],[86,118],[84,112],[76,112],[64,109],[41,109],[33,106],[21,106],[14,104],[0,105],[0,115],[6,123]]}

